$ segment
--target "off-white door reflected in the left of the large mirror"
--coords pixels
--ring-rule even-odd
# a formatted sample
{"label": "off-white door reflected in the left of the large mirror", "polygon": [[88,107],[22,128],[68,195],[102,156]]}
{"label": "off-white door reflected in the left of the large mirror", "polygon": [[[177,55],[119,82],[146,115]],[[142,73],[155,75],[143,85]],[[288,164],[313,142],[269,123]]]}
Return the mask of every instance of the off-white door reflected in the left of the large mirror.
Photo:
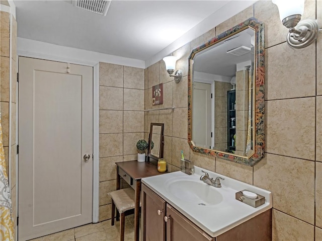
{"label": "off-white door reflected in the left of the large mirror", "polygon": [[195,82],[192,98],[192,140],[196,146],[211,148],[211,85]]}

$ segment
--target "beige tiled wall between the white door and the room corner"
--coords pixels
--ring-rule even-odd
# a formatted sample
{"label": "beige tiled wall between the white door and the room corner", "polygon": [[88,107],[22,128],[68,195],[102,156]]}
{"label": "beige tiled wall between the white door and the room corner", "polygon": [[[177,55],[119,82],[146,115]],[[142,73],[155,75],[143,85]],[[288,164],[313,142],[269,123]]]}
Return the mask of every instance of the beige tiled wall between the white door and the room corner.
{"label": "beige tiled wall between the white door and the room corner", "polygon": [[111,218],[108,193],[116,188],[115,163],[137,159],[143,110],[144,69],[100,62],[100,221]]}

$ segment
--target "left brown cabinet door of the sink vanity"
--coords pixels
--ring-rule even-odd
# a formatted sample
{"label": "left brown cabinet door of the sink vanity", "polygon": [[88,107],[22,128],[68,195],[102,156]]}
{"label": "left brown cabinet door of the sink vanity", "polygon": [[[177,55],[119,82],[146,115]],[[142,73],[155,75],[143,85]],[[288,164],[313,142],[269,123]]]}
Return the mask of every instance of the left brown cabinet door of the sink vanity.
{"label": "left brown cabinet door of the sink vanity", "polygon": [[166,201],[142,184],[142,219],[144,241],[166,241]]}

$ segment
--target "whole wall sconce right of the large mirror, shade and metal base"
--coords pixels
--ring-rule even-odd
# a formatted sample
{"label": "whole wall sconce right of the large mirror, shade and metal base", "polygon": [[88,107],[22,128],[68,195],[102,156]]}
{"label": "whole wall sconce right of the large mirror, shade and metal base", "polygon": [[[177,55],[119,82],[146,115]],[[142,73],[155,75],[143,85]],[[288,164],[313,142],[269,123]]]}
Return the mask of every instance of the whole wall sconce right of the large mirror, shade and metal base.
{"label": "whole wall sconce right of the large mirror, shade and metal base", "polygon": [[304,12],[304,0],[272,0],[277,5],[283,25],[289,29],[287,43],[293,48],[304,48],[317,37],[318,25],[315,20],[301,20]]}

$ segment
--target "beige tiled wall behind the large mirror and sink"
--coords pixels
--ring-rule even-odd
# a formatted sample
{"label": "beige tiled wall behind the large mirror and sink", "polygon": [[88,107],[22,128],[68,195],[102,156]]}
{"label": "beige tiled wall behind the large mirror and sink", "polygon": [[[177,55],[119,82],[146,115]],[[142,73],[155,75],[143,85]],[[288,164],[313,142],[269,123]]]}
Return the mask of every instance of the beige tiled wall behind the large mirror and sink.
{"label": "beige tiled wall behind the large mirror and sink", "polygon": [[[321,24],[321,2],[306,0],[303,19],[318,18]],[[265,23],[266,48],[266,154],[254,167],[195,153],[187,142],[186,76],[191,50],[250,17]],[[145,107],[176,109],[146,113],[144,132],[147,135],[151,121],[165,123],[170,171],[179,170],[183,149],[199,167],[272,191],[273,240],[314,240],[314,235],[322,240],[322,34],[316,44],[294,50],[286,43],[287,32],[277,7],[263,0],[173,52],[180,58],[176,69],[184,73],[181,83],[167,75],[163,60],[147,67]],[[151,88],[159,83],[166,87],[164,104],[152,106]]]}

